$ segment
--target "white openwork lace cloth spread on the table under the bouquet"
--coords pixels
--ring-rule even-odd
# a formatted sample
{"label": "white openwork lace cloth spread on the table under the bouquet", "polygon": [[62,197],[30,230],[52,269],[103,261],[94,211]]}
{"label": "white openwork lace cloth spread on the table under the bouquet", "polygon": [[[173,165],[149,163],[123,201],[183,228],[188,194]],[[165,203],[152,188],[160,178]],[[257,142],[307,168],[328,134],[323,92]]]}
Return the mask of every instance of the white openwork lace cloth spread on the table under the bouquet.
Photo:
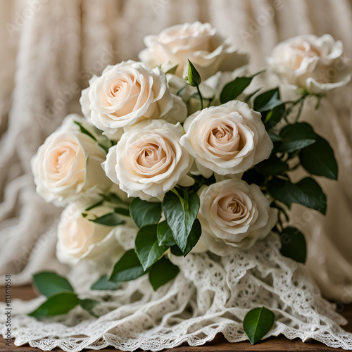
{"label": "white openwork lace cloth spread on the table under the bouquet", "polygon": [[184,342],[199,346],[218,333],[230,342],[244,341],[244,316],[251,308],[265,306],[276,316],[268,336],[315,339],[352,350],[352,334],[339,326],[346,320],[320,296],[304,266],[281,256],[278,249],[277,236],[270,234],[252,249],[234,249],[222,258],[208,253],[172,256],[180,274],[156,292],[146,276],[118,291],[90,291],[90,298],[103,302],[96,307],[96,313],[103,314],[99,319],[77,307],[68,315],[39,321],[25,313],[37,308],[43,297],[13,301],[15,345],[29,343],[45,351],[107,346],[161,351]]}

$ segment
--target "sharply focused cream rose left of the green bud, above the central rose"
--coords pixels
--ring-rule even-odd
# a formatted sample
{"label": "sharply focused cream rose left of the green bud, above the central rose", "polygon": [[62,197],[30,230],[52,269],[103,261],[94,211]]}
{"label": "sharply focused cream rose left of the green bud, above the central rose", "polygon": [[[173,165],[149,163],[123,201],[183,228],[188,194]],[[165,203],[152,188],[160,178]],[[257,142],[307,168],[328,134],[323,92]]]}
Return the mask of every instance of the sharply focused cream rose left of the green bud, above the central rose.
{"label": "sharply focused cream rose left of the green bud, above the central rose", "polygon": [[180,121],[187,116],[183,102],[170,94],[165,74],[132,60],[108,65],[101,77],[92,77],[80,103],[83,114],[112,139],[120,138],[123,127],[172,113],[175,104]]}

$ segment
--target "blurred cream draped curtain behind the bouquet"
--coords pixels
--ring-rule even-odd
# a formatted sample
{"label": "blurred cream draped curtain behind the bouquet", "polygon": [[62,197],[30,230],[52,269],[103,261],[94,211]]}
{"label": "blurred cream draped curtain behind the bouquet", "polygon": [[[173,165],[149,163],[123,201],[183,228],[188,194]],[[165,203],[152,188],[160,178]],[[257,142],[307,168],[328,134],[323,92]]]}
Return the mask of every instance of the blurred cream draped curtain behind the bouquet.
{"label": "blurred cream draped curtain behind the bouquet", "polygon": [[[108,64],[137,59],[146,34],[177,23],[208,22],[251,68],[283,39],[332,34],[352,57],[351,0],[0,0],[0,274],[13,284],[32,272],[65,273],[55,258],[61,209],[35,192],[30,158]],[[308,239],[308,269],[327,297],[352,302],[352,86],[329,94],[303,119],[332,145],[339,181],[319,180],[327,217],[299,206],[292,223]],[[1,283],[5,280],[1,280]]]}

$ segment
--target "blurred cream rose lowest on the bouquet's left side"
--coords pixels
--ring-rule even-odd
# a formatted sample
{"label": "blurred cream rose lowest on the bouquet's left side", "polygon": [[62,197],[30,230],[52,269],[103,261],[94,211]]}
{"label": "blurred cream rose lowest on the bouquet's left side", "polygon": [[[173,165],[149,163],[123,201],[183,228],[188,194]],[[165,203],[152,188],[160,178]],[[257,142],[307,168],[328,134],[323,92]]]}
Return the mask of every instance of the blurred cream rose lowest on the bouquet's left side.
{"label": "blurred cream rose lowest on the bouquet's left side", "polygon": [[[74,265],[80,260],[106,261],[117,258],[125,251],[118,241],[119,237],[125,232],[128,232],[132,239],[136,236],[137,227],[131,224],[130,218],[122,215],[126,224],[115,227],[89,221],[112,211],[108,206],[99,206],[86,211],[85,209],[95,201],[92,199],[91,202],[87,202],[86,199],[83,201],[79,199],[63,210],[58,224],[56,245],[56,256],[61,263]],[[87,215],[83,217],[82,213]]]}

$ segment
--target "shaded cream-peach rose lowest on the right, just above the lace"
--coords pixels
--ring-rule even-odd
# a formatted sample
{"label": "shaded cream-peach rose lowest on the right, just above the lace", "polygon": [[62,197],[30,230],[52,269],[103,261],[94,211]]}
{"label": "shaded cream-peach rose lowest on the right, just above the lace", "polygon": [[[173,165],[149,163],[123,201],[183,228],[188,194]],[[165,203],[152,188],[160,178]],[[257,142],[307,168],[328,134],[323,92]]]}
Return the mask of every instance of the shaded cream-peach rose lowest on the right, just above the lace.
{"label": "shaded cream-peach rose lowest on the right, just above the lace", "polygon": [[248,249],[263,239],[277,221],[277,212],[256,184],[225,180],[201,191],[201,241],[225,256],[232,247]]}

